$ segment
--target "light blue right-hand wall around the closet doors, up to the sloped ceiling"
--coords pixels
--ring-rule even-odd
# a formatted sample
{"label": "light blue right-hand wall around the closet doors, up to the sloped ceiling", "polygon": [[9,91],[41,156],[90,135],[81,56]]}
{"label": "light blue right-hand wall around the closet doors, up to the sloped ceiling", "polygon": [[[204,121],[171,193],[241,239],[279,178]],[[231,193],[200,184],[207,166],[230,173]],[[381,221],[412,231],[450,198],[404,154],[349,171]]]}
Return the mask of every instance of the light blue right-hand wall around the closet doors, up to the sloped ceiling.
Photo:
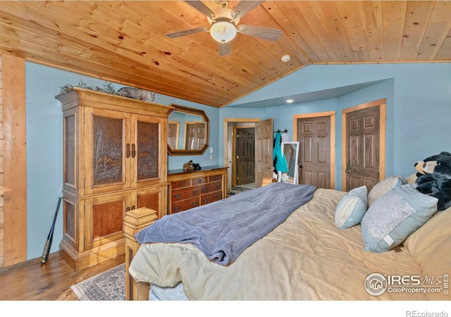
{"label": "light blue right-hand wall around the closet doors, up to the sloped ceiling", "polygon": [[[308,66],[232,105],[379,80],[382,82],[336,99],[264,108],[260,118],[273,118],[274,129],[286,128],[292,136],[295,114],[335,111],[337,189],[341,189],[341,113],[345,108],[387,99],[387,176],[409,176],[415,172],[416,161],[440,151],[451,151],[451,63]],[[245,109],[222,108],[221,117],[233,118],[233,113],[241,110]]]}

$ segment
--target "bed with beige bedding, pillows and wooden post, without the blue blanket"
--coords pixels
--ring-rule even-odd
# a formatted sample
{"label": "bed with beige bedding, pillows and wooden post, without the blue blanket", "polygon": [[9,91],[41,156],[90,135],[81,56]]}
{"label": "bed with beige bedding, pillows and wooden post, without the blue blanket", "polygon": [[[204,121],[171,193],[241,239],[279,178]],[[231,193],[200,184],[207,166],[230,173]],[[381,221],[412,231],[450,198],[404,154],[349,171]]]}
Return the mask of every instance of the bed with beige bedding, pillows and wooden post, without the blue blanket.
{"label": "bed with beige bedding, pillows and wooden post, without the blue blanket", "polygon": [[[248,192],[267,195],[280,186],[273,183]],[[366,187],[357,192],[314,189],[285,219],[278,219],[275,228],[223,263],[196,241],[140,244],[137,238],[160,220],[155,222],[150,209],[130,211],[124,223],[126,297],[449,300],[451,209],[437,211],[435,198],[416,192],[415,186],[393,176],[370,192]],[[280,192],[271,199],[279,208],[286,200],[280,200]],[[218,207],[209,208],[214,213]],[[195,212],[185,211],[184,216]]]}

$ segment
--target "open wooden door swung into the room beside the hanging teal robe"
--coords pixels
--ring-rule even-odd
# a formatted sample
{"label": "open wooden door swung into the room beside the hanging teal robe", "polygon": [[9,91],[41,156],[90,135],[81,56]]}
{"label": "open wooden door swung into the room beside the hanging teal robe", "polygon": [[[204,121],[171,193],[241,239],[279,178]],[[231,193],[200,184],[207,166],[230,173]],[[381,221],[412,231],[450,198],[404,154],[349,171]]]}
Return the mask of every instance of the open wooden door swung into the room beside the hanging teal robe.
{"label": "open wooden door swung into the room beside the hanging teal robe", "polygon": [[255,187],[273,177],[273,119],[255,123]]}

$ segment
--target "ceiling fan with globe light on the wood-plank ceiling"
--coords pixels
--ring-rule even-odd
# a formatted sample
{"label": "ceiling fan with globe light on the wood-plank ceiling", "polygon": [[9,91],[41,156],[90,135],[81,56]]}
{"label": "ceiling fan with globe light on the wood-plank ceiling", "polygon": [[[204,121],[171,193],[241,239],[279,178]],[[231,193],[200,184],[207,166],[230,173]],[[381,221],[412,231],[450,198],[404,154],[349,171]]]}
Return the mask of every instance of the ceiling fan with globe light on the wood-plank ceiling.
{"label": "ceiling fan with globe light on the wood-plank ceiling", "polygon": [[232,52],[230,41],[235,38],[237,32],[271,41],[276,41],[282,35],[282,30],[271,29],[269,27],[238,25],[243,15],[264,3],[264,1],[242,0],[235,8],[230,9],[228,8],[228,1],[217,0],[215,2],[218,8],[214,10],[202,4],[201,1],[185,0],[185,2],[197,9],[200,13],[206,15],[206,20],[208,20],[210,27],[196,27],[190,30],[168,33],[166,36],[175,38],[197,32],[210,32],[211,37],[219,42],[219,56],[225,56]]}

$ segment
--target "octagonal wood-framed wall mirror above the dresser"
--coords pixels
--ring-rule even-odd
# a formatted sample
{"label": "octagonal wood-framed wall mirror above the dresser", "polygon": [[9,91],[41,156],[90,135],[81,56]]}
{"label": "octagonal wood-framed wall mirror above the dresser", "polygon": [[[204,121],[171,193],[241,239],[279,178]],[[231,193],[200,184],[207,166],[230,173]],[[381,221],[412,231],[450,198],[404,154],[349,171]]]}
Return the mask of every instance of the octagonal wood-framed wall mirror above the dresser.
{"label": "octagonal wood-framed wall mirror above the dresser", "polygon": [[209,147],[209,117],[200,109],[171,104],[168,118],[168,154],[202,155]]}

